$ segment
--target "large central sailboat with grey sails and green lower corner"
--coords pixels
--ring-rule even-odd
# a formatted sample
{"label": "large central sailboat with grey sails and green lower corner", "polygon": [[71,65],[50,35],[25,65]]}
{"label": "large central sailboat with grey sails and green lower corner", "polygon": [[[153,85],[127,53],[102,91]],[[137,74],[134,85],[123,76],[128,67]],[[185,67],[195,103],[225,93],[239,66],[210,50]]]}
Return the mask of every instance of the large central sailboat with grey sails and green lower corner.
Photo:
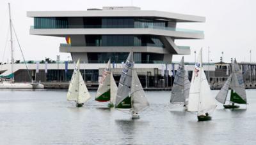
{"label": "large central sailboat with grey sails and green lower corner", "polygon": [[[140,118],[139,112],[149,106],[137,73],[133,70],[133,53],[130,52],[122,70],[116,93],[115,108],[129,109],[132,119]],[[131,92],[131,95],[129,94]]]}

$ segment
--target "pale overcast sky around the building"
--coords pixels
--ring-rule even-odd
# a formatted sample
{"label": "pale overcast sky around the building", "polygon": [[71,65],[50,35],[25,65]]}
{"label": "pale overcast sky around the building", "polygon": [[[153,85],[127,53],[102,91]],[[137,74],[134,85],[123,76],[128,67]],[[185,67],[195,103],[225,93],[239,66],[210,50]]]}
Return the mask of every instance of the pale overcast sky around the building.
{"label": "pale overcast sky around the building", "polygon": [[[102,6],[131,6],[129,0],[1,0],[0,1],[0,62],[3,60],[4,46],[8,33],[8,2],[12,7],[13,25],[19,36],[20,45],[26,60],[42,60],[45,57],[67,60],[70,54],[60,53],[60,43],[64,38],[29,35],[29,27],[33,18],[26,17],[26,11],[65,11],[86,10],[87,8],[102,8]],[[224,52],[224,61],[230,62],[230,57],[237,61],[256,62],[256,1],[255,0],[133,0],[133,6],[141,10],[160,10],[188,15],[206,17],[205,23],[178,24],[179,28],[204,31],[205,39],[179,40],[177,45],[191,46],[191,55],[185,55],[185,61],[194,61],[194,51],[203,48],[204,62],[210,59],[220,61]],[[10,44],[4,54],[4,62],[10,56]],[[18,45],[15,43],[15,59],[21,59]],[[179,61],[181,55],[174,55],[173,61]]]}

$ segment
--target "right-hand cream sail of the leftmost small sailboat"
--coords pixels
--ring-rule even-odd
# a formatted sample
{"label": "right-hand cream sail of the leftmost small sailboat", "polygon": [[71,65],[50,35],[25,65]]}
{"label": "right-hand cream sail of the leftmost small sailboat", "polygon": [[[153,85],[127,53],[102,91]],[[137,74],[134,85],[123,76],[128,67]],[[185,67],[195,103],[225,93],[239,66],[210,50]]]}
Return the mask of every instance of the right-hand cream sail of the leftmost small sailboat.
{"label": "right-hand cream sail of the leftmost small sailboat", "polygon": [[77,102],[80,104],[80,103],[83,103],[83,102],[86,102],[87,100],[89,100],[91,98],[91,95],[90,93],[88,92],[87,90],[87,87],[84,83],[84,79],[81,75],[81,72],[79,72],[79,93],[78,93],[78,100]]}

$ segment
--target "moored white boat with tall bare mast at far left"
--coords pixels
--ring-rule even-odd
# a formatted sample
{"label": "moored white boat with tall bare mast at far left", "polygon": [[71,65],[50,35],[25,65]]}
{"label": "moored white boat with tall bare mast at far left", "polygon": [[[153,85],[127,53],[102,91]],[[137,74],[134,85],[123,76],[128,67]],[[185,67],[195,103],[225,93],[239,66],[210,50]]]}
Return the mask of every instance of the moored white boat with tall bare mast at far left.
{"label": "moored white boat with tall bare mast at far left", "polygon": [[[10,42],[11,42],[11,71],[6,71],[6,74],[3,76],[0,76],[0,88],[44,88],[44,85],[40,83],[15,83],[14,80],[14,57],[13,57],[13,25],[12,25],[12,18],[11,18],[11,6],[10,3],[8,3],[9,8],[9,19],[10,19]],[[27,68],[28,69],[28,68]],[[5,72],[4,72],[5,73]],[[11,73],[11,74],[10,74]],[[29,74],[30,76],[30,74]],[[31,77],[30,77],[31,78]]]}

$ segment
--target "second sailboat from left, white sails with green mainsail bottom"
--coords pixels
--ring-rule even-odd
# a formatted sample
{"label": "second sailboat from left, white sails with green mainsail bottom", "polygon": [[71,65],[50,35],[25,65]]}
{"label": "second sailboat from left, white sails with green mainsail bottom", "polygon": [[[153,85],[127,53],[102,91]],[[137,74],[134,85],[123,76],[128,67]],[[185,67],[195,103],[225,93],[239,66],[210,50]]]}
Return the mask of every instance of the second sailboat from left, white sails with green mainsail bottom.
{"label": "second sailboat from left, white sails with green mainsail bottom", "polygon": [[109,101],[108,107],[114,107],[117,86],[110,69],[111,65],[109,59],[106,68],[102,72],[102,78],[99,81],[99,88],[97,90],[95,100],[99,102]]}

